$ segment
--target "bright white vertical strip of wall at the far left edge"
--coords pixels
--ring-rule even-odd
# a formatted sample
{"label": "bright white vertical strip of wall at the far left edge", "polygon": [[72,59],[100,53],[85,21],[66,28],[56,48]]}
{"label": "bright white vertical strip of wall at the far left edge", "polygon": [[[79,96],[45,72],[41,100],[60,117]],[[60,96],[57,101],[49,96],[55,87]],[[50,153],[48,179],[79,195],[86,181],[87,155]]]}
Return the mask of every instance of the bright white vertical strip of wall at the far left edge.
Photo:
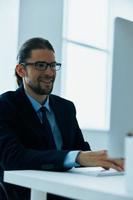
{"label": "bright white vertical strip of wall at the far left edge", "polygon": [[15,88],[19,0],[0,0],[0,93]]}

